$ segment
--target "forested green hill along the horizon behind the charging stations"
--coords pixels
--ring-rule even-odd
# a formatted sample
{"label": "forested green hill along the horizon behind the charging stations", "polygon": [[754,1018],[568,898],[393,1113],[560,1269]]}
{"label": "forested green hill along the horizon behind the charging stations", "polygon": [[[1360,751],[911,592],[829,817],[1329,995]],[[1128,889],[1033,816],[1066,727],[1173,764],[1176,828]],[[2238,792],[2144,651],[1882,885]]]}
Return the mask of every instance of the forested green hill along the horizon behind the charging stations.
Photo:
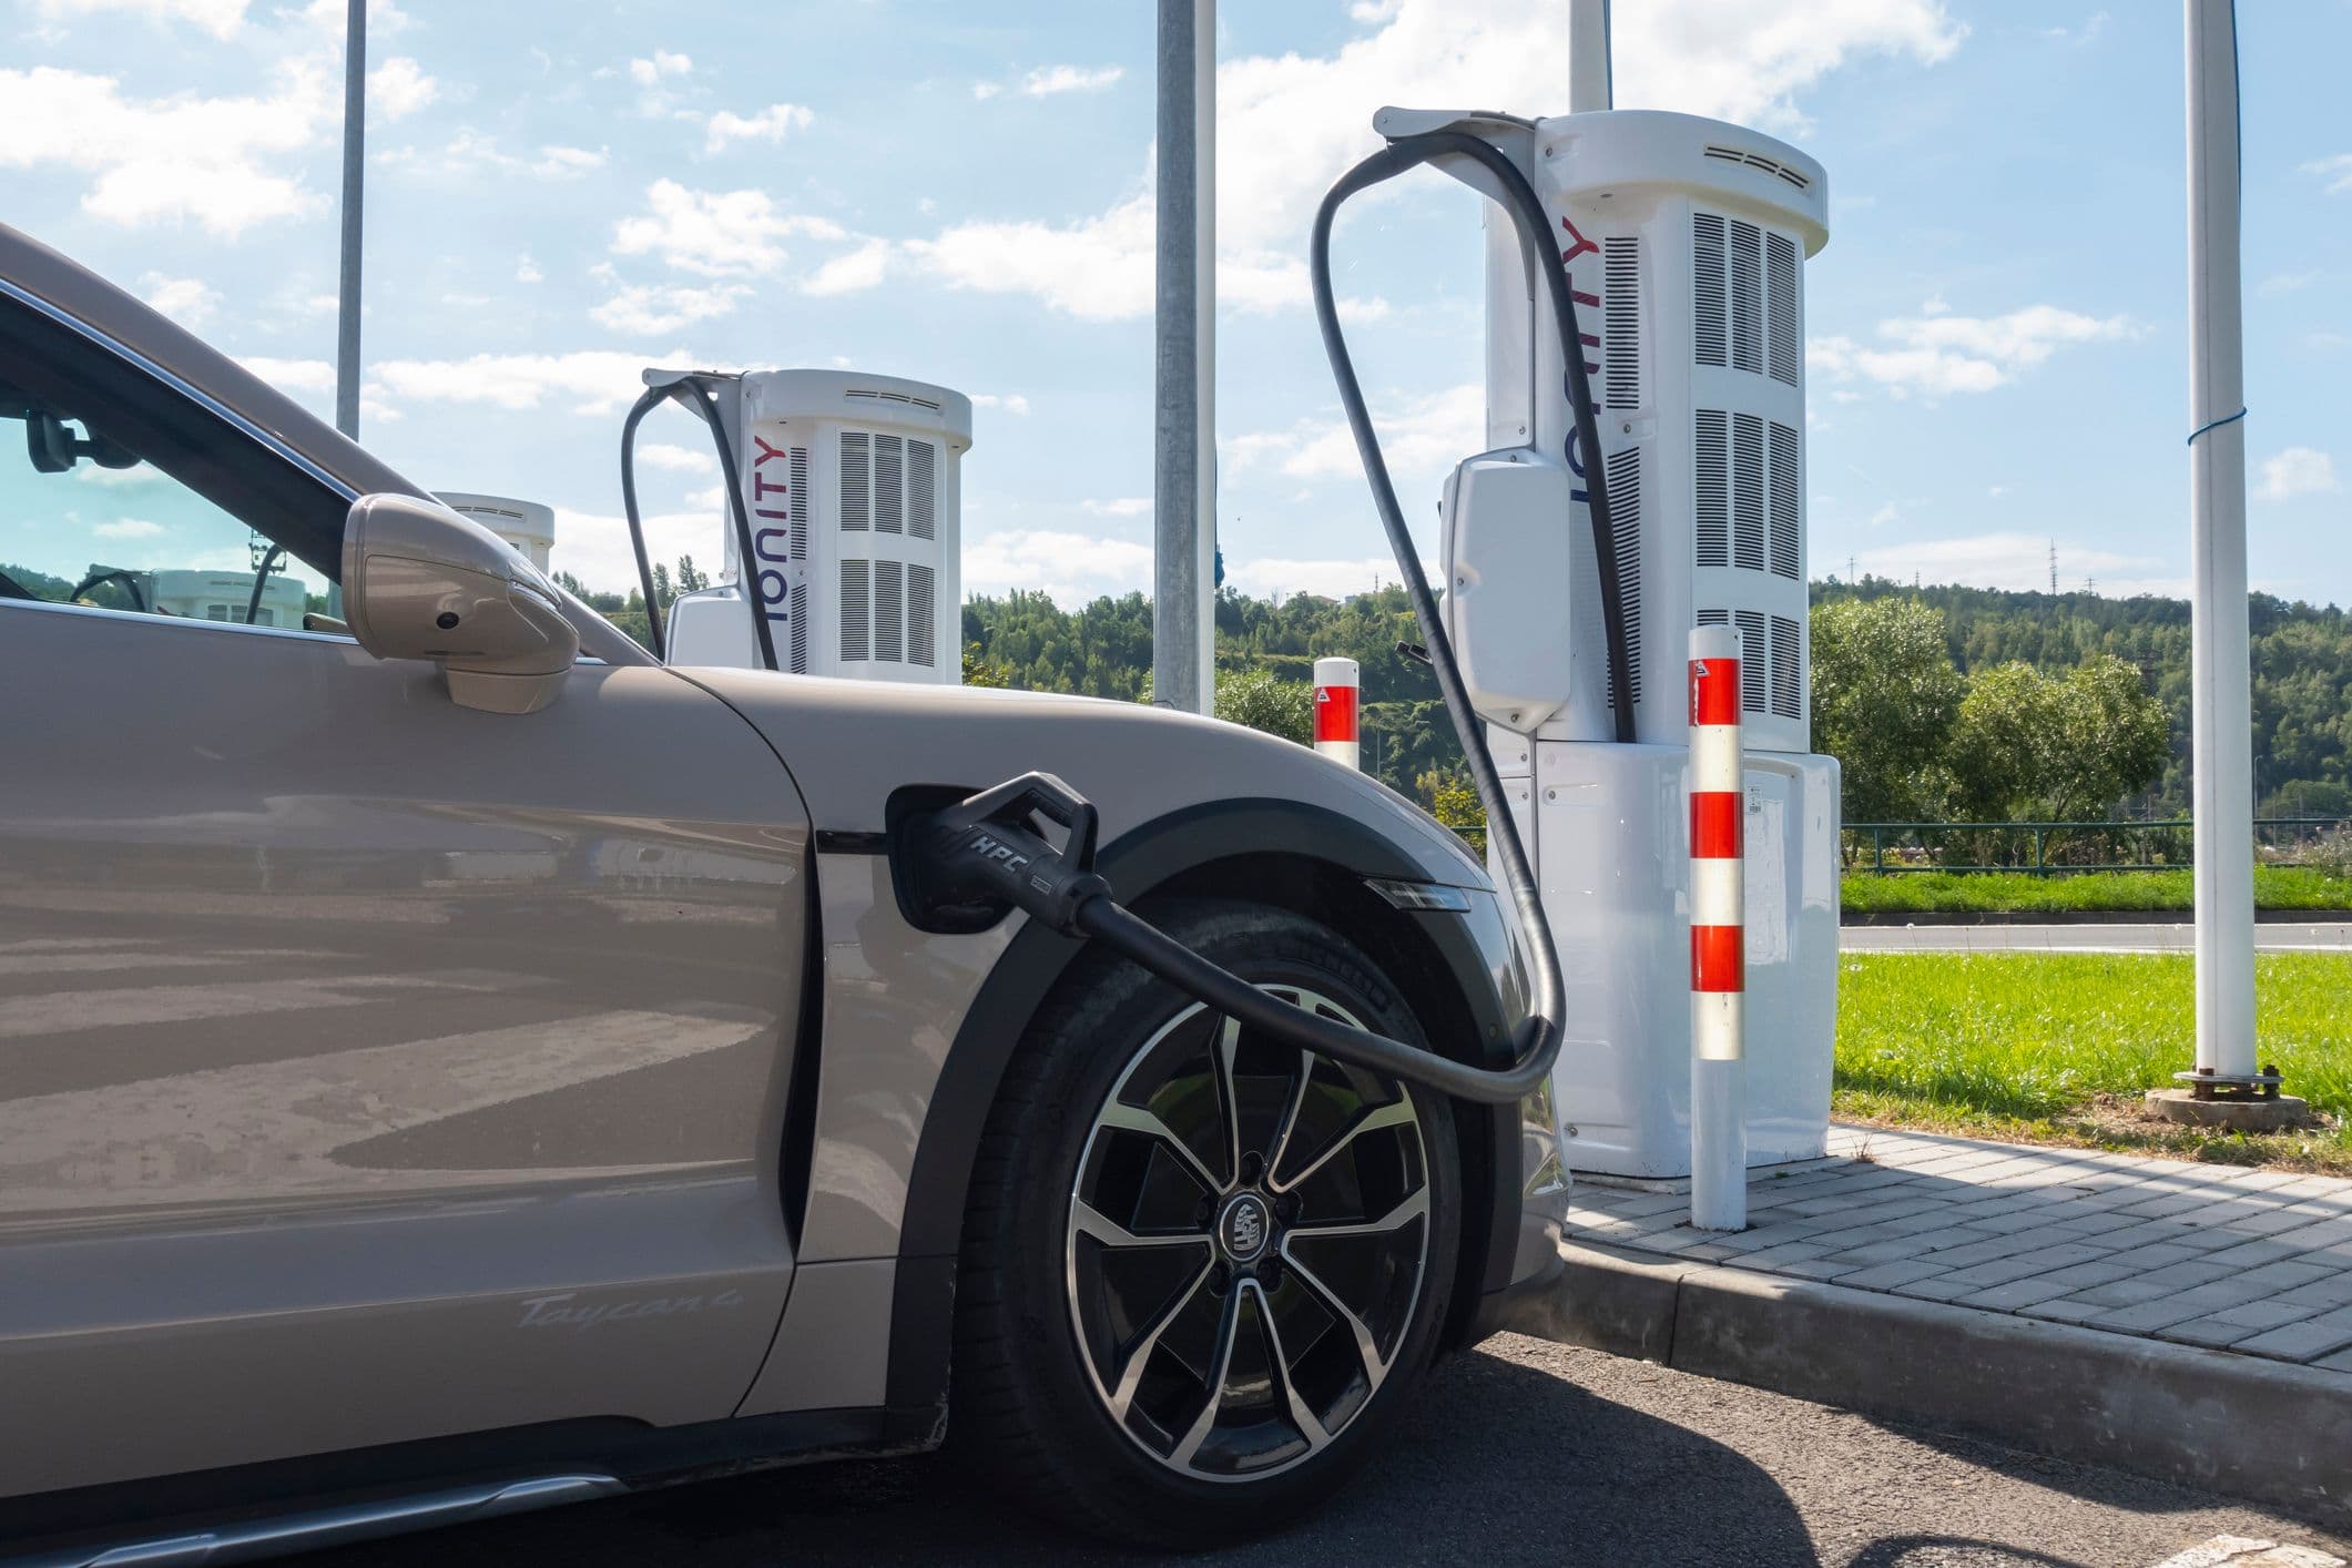
{"label": "forested green hill along the horizon behind the charging stations", "polygon": [[[1910,588],[1884,578],[1816,583],[1813,602],[1917,597],[1943,614],[1952,663],[1964,675],[2023,661],[2072,670],[2091,654],[2136,665],[2173,722],[2173,759],[2138,806],[2169,813],[2187,802],[2190,607],[2185,599],[2110,599],[2093,592],[1997,592]],[[2253,595],[2256,797],[2265,813],[2352,811],[2352,618]],[[1096,599],[1077,611],[1037,592],[971,599],[964,642],[985,672],[1037,691],[1134,701],[1150,675],[1152,609],[1143,595]],[[1458,766],[1461,750],[1425,665],[1402,658],[1418,642],[1402,588],[1350,599],[1294,595],[1279,602],[1225,590],[1216,607],[1218,670],[1263,668],[1310,679],[1317,656],[1364,665],[1364,762],[1406,795],[1423,776]],[[1418,788],[1416,788],[1418,785]]]}

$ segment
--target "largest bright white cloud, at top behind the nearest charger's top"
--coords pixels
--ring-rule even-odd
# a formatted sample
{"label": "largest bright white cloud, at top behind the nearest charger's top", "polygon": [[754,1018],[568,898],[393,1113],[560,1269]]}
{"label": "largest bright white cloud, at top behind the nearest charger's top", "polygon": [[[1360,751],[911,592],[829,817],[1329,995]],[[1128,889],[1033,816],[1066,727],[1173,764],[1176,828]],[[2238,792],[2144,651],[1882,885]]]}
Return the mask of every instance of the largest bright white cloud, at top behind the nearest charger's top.
{"label": "largest bright white cloud, at top behind the nearest charger's top", "polygon": [[[1555,103],[1566,7],[1522,0],[1359,5],[1376,28],[1331,54],[1228,59],[1218,96],[1218,296],[1244,310],[1308,301],[1305,214],[1371,153],[1374,103]],[[1870,54],[1945,59],[1966,26],[1943,0],[1649,0],[1616,21],[1618,103],[1795,125],[1795,94]],[[993,96],[983,82],[976,96]],[[910,254],[955,289],[1030,294],[1080,320],[1150,313],[1152,188],[1075,221],[981,219]],[[1374,306],[1362,306],[1374,308]]]}

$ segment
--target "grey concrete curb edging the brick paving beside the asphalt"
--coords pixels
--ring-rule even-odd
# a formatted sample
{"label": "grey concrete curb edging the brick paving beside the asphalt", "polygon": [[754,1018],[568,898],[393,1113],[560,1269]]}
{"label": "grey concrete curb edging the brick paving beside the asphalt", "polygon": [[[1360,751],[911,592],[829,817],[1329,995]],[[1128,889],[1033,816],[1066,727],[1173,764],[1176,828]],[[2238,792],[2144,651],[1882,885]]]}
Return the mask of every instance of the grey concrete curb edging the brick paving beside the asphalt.
{"label": "grey concrete curb edging the brick paving beside the asphalt", "polygon": [[1566,1244],[1512,1324],[2352,1528],[2352,1378],[2225,1349]]}

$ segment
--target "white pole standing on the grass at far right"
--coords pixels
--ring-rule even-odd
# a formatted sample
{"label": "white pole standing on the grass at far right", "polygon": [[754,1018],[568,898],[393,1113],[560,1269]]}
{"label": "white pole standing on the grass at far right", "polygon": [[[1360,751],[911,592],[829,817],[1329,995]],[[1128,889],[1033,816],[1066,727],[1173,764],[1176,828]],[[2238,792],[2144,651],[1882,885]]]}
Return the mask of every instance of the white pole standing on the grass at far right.
{"label": "white pole standing on the grass at far right", "polygon": [[2187,78],[2197,1072],[2251,1079],[2253,724],[2246,654],[2237,12],[2230,0],[2187,0]]}

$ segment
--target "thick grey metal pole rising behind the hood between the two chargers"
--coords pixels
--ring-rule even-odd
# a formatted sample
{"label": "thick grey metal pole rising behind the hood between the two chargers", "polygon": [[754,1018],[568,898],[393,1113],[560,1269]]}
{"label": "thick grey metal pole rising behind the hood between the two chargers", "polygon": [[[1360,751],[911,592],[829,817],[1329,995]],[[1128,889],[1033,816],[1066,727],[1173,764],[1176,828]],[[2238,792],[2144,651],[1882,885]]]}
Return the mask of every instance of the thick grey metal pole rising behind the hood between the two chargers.
{"label": "thick grey metal pole rising behind the hood between the two chargers", "polygon": [[1216,0],[1160,0],[1152,701],[1209,712],[1216,668]]}

